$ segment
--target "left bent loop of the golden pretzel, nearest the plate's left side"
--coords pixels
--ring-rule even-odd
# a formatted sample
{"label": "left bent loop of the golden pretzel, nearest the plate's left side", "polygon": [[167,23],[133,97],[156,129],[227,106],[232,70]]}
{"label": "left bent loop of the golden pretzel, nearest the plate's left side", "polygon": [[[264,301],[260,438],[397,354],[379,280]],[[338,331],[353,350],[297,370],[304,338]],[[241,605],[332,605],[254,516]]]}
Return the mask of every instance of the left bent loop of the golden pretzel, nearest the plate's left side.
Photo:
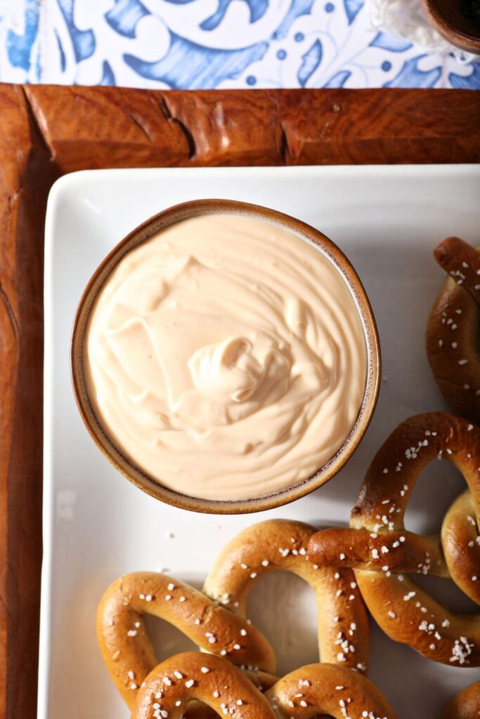
{"label": "left bent loop of the golden pretzel, nearest the plate's left side", "polygon": [[109,674],[130,709],[140,684],[158,664],[145,631],[144,614],[168,621],[201,649],[225,656],[234,664],[266,672],[275,667],[270,644],[245,619],[166,574],[126,574],[102,597],[96,631]]}

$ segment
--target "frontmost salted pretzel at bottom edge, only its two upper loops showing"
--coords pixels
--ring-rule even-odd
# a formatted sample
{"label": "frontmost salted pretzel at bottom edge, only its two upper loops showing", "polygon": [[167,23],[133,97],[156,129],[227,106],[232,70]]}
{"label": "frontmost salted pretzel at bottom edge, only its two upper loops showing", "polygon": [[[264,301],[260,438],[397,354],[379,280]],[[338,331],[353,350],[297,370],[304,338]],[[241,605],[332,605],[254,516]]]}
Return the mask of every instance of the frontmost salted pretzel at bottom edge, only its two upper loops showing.
{"label": "frontmost salted pretzel at bottom edge, only its two upper loops showing", "polygon": [[265,695],[219,656],[177,654],[153,669],[138,692],[132,719],[181,719],[192,700],[233,719],[395,719],[366,677],[332,664],[311,664],[287,674]]}

